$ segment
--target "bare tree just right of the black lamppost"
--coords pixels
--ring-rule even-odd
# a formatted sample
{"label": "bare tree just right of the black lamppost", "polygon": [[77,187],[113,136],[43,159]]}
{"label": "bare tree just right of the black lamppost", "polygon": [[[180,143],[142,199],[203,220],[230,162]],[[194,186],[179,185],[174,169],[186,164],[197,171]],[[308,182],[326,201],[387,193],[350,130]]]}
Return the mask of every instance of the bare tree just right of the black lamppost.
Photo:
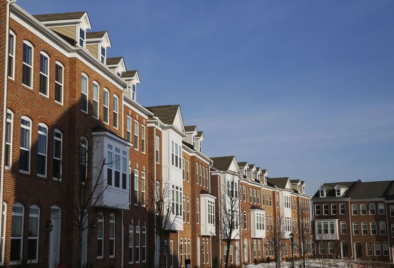
{"label": "bare tree just right of the black lamppost", "polygon": [[312,251],[313,235],[311,231],[311,219],[308,213],[299,207],[298,209],[298,230],[296,233],[296,246],[298,252],[302,255],[303,268],[305,268],[305,259]]}

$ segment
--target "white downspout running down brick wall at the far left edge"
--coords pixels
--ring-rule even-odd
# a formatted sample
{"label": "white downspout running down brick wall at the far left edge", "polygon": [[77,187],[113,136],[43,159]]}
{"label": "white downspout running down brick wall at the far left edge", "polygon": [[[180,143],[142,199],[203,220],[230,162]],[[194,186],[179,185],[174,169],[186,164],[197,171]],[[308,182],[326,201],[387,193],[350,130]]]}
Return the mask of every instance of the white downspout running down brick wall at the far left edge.
{"label": "white downspout running down brick wall at the far left edge", "polygon": [[[8,38],[9,38],[9,7],[16,0],[10,0],[6,6],[6,19],[5,19],[5,60],[4,60],[4,100],[3,100],[3,130],[1,137],[1,171],[0,171],[0,230],[1,218],[3,215],[3,188],[4,188],[4,155],[5,155],[5,126],[7,122],[7,82],[8,82]],[[2,235],[2,234],[0,234]]]}

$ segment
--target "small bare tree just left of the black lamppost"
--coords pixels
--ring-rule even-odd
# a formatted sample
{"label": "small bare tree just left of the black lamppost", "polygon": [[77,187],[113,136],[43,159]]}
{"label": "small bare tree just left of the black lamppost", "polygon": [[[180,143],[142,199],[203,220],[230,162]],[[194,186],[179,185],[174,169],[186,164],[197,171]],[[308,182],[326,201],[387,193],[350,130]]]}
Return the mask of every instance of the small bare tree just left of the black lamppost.
{"label": "small bare tree just left of the black lamppost", "polygon": [[286,230],[285,230],[285,218],[282,213],[276,218],[276,222],[272,226],[271,230],[267,232],[267,242],[272,248],[275,258],[275,267],[280,268],[280,257],[281,250],[285,246]]}

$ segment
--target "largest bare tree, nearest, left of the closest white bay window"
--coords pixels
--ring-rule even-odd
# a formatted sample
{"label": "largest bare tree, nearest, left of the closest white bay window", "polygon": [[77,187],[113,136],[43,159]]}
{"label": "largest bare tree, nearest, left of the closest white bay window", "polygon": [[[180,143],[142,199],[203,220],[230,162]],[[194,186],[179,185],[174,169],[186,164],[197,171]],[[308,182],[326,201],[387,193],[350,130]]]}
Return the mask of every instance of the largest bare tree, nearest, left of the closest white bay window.
{"label": "largest bare tree, nearest, left of the closest white bay window", "polygon": [[[89,239],[86,239],[86,263],[82,263],[84,232],[94,230],[98,213],[94,213],[94,209],[101,203],[105,190],[108,188],[106,178],[102,178],[103,168],[106,165],[114,164],[120,159],[111,159],[106,161],[105,158],[94,162],[93,156],[95,152],[102,149],[101,142],[97,142],[95,138],[90,140],[87,138],[91,132],[84,130],[81,132],[77,140],[78,142],[71,147],[74,150],[74,166],[77,167],[77,174],[69,172],[67,176],[63,176],[64,172],[60,172],[62,161],[58,160],[54,163],[54,178],[57,178],[60,196],[63,202],[63,211],[66,218],[71,221],[73,227],[78,230],[78,248],[77,248],[77,267],[90,267]],[[56,146],[56,145],[55,145]],[[55,148],[54,154],[56,154]],[[61,174],[62,173],[62,174]],[[115,205],[114,208],[123,205]],[[94,215],[90,216],[89,215]],[[85,233],[87,234],[87,233]],[[86,235],[85,237],[89,237]],[[70,243],[73,243],[73,233],[69,235]],[[65,262],[68,261],[69,248],[66,248]]]}

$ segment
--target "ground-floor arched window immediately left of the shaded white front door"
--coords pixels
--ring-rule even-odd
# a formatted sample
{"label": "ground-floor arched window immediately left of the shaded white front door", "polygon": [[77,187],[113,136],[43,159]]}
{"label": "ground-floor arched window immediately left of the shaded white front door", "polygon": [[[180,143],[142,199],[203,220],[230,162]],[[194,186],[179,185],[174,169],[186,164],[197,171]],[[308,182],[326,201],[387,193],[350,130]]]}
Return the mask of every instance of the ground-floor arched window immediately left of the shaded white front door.
{"label": "ground-floor arched window immediately left of the shaded white front door", "polygon": [[37,261],[40,209],[37,205],[31,205],[29,212],[28,261]]}

